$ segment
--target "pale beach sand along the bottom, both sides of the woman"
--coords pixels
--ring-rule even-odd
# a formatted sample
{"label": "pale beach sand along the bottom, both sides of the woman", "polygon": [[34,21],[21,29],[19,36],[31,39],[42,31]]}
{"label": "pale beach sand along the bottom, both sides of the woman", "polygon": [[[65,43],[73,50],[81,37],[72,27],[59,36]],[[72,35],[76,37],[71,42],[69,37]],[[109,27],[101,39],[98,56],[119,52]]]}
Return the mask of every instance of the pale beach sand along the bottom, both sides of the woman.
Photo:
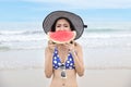
{"label": "pale beach sand along the bottom, both sides of the woman", "polygon": [[[131,87],[131,70],[86,70],[79,87]],[[48,87],[41,69],[0,71],[0,87]]]}

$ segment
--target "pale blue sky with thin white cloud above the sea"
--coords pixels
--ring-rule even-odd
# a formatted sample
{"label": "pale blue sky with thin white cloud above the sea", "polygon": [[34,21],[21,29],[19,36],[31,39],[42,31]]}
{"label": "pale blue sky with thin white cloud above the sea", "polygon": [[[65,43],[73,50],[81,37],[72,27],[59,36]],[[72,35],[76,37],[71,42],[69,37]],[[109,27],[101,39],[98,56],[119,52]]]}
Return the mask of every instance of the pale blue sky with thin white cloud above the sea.
{"label": "pale blue sky with thin white cloud above the sea", "polygon": [[76,13],[85,23],[131,22],[131,0],[0,0],[0,28],[37,27],[57,10]]}

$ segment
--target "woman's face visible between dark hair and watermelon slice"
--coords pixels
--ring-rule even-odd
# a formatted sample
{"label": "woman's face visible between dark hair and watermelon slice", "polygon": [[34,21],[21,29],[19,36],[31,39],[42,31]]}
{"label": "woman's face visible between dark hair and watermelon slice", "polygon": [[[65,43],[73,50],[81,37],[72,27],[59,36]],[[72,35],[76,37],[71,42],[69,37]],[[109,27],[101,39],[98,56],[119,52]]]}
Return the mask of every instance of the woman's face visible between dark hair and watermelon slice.
{"label": "woman's face visible between dark hair and watermelon slice", "polygon": [[71,30],[69,22],[64,18],[58,20],[56,24],[56,32],[58,30]]}

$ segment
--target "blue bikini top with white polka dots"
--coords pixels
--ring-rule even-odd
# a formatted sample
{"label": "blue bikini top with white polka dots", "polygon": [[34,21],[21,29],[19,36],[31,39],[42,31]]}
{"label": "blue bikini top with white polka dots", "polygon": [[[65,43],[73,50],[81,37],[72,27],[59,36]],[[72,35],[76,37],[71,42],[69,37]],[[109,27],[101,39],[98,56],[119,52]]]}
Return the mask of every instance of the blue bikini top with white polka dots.
{"label": "blue bikini top with white polka dots", "polygon": [[[55,48],[55,51],[53,51],[53,57],[52,57],[52,65],[53,65],[53,69],[57,70],[59,69],[61,65],[63,65],[63,63],[60,61],[60,58],[58,55],[58,49]],[[71,52],[69,51],[69,54],[68,54],[68,59],[64,63],[66,65],[66,70],[69,69],[69,70],[72,70],[72,69],[75,69],[74,66],[74,61],[73,61],[73,57],[71,54]]]}

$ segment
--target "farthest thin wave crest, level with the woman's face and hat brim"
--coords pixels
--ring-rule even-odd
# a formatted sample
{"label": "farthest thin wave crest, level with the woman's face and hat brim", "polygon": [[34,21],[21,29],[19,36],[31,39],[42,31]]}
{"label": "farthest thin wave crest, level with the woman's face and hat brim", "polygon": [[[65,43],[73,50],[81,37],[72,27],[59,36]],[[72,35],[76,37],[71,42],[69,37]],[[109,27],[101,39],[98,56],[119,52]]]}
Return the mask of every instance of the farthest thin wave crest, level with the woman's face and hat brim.
{"label": "farthest thin wave crest, level with the woman's face and hat brim", "polygon": [[[131,28],[128,29],[118,29],[118,28],[87,28],[84,30],[85,33],[119,33],[119,32],[131,32]],[[44,30],[0,30],[0,35],[33,35],[33,34],[45,34]]]}

